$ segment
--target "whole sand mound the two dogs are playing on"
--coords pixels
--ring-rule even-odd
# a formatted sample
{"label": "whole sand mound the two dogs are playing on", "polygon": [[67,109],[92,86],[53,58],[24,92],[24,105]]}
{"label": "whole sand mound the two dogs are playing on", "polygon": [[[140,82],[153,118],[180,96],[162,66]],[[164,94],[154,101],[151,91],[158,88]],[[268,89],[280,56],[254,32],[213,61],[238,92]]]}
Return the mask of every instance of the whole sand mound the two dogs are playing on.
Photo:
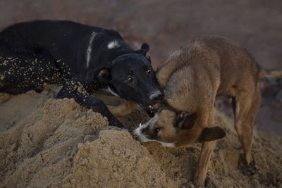
{"label": "whole sand mound the two dogs are playing on", "polygon": [[[140,144],[73,99],[54,99],[55,93],[0,95],[0,187],[192,187],[200,144]],[[147,119],[136,108],[121,122],[131,132]],[[227,136],[216,144],[208,187],[282,186],[281,138],[255,130],[255,163],[246,168],[232,121],[216,112],[216,122]]]}

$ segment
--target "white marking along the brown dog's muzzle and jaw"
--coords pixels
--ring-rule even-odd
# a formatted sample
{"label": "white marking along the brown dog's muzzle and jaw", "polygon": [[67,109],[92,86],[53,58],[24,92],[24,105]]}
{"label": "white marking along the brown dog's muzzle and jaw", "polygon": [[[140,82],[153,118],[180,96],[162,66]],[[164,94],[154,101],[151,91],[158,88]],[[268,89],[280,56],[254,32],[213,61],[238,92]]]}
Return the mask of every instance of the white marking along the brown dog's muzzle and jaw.
{"label": "white marking along the brown dog's muzzle and jaw", "polygon": [[157,141],[154,139],[148,139],[145,134],[142,134],[142,130],[146,129],[154,120],[158,118],[158,116],[159,116],[159,113],[156,113],[156,115],[154,115],[154,117],[151,120],[149,120],[147,123],[145,123],[144,125],[141,125],[140,123],[139,127],[134,130],[134,134],[136,134],[139,137],[140,142],[159,142],[164,147],[169,147],[169,148],[175,147],[176,144],[174,143],[167,143],[167,142]]}

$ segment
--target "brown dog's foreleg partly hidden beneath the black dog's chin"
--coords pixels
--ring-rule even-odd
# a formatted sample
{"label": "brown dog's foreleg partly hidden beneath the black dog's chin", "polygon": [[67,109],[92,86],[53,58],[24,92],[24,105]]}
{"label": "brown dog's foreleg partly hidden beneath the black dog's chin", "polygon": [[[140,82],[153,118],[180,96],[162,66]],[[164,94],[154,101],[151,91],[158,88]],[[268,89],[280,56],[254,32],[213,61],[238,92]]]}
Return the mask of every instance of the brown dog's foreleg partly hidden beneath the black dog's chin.
{"label": "brown dog's foreleg partly hidden beneath the black dog's chin", "polygon": [[125,101],[123,104],[118,106],[107,105],[109,111],[114,115],[115,118],[130,114],[135,106],[137,106],[135,101]]}

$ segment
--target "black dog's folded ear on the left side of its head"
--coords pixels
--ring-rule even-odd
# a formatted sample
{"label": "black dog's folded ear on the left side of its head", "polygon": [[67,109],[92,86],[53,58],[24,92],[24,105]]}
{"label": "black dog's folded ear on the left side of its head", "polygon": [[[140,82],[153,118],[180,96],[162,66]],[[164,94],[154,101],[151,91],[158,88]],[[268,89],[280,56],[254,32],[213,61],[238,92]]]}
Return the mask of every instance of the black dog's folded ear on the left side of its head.
{"label": "black dog's folded ear on the left side of its head", "polygon": [[111,61],[106,61],[105,63],[99,65],[97,68],[89,70],[86,75],[86,80],[109,77],[109,70],[111,70]]}

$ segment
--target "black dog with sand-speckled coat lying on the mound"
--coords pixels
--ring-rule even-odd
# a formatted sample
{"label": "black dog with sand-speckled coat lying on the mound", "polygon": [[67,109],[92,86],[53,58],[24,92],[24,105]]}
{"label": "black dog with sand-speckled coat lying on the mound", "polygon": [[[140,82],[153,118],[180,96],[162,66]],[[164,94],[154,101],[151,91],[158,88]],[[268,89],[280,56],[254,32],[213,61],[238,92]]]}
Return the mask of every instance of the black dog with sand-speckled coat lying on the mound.
{"label": "black dog with sand-speckled coat lying on the mound", "polygon": [[136,101],[148,113],[163,92],[152,70],[148,44],[133,50],[114,30],[70,21],[39,20],[0,32],[0,92],[42,91],[54,80],[63,84],[58,98],[74,98],[123,127],[106,105],[90,95],[97,89]]}

